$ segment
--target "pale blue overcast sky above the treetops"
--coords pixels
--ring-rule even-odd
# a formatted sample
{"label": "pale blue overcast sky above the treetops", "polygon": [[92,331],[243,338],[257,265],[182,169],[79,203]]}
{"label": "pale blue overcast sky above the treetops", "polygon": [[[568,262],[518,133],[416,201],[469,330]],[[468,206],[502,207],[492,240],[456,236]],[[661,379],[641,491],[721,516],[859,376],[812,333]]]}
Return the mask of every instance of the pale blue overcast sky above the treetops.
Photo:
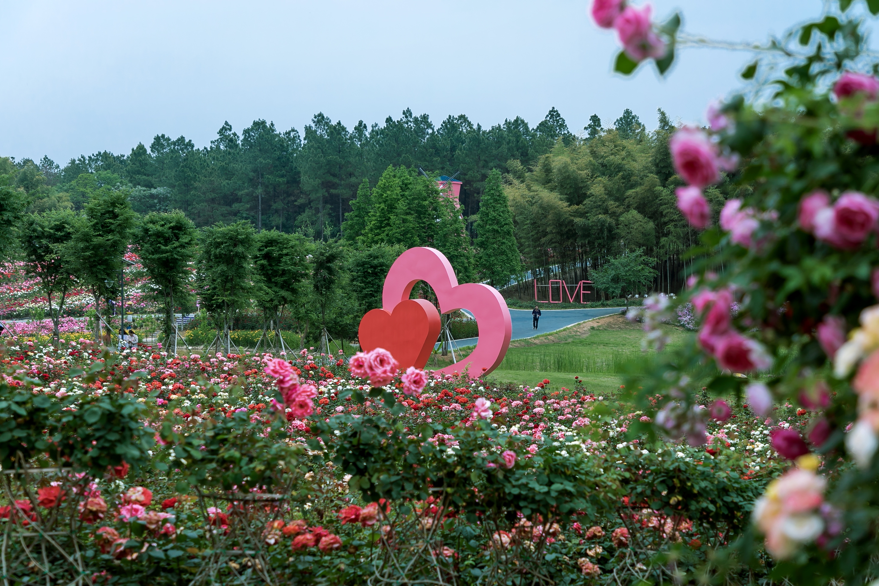
{"label": "pale blue overcast sky above the treetops", "polygon": [[[10,2],[0,0],[0,156],[57,163],[128,153],[155,134],[207,144],[224,120],[301,131],[316,112],[352,127],[403,108],[435,124],[464,113],[534,125],[556,106],[577,131],[631,108],[699,121],[739,87],[746,53],[689,48],[667,79],[611,72],[614,33],[585,0],[461,2]],[[636,4],[640,4],[636,1]],[[653,0],[689,33],[766,40],[817,15],[820,0]]]}

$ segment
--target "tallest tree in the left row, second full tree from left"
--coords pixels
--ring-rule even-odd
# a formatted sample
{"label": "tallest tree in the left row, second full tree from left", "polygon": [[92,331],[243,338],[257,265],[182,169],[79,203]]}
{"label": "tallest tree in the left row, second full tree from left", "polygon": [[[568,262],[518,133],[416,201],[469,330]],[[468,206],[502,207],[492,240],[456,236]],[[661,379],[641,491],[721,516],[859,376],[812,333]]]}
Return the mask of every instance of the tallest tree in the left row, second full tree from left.
{"label": "tallest tree in the left row, second full tree from left", "polygon": [[127,189],[113,189],[107,185],[91,192],[84,213],[76,216],[73,235],[65,247],[69,269],[95,300],[95,342],[100,343],[101,303],[108,299],[115,286],[107,286],[119,280],[123,257],[131,240],[135,214],[128,203]]}

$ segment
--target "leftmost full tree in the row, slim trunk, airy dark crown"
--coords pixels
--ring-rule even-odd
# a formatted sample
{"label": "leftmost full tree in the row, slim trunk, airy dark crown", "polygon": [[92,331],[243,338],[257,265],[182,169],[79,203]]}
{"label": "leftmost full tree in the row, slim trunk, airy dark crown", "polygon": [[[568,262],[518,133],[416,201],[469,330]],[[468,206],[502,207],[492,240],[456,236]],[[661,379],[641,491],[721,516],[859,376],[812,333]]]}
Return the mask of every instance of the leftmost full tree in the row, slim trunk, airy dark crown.
{"label": "leftmost full tree in the row, slim trunk, airy dark crown", "polygon": [[[28,213],[22,221],[21,247],[25,254],[25,271],[40,283],[46,296],[48,314],[52,319],[52,339],[58,345],[58,322],[64,310],[64,301],[76,277],[70,268],[65,249],[74,234],[76,214],[70,210],[47,213]],[[57,303],[53,307],[53,299]]]}

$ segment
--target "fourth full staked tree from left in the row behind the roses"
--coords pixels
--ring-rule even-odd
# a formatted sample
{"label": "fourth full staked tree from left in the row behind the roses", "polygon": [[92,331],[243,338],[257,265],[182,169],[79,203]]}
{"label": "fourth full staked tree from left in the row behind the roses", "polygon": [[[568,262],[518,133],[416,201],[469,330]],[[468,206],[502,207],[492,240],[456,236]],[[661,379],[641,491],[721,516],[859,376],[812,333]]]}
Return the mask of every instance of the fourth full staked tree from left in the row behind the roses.
{"label": "fourth full staked tree from left in the row behind the roses", "polygon": [[253,293],[251,262],[257,248],[256,236],[248,221],[218,223],[201,231],[196,282],[202,305],[214,319],[217,347],[225,344],[227,353],[231,351],[232,320]]}

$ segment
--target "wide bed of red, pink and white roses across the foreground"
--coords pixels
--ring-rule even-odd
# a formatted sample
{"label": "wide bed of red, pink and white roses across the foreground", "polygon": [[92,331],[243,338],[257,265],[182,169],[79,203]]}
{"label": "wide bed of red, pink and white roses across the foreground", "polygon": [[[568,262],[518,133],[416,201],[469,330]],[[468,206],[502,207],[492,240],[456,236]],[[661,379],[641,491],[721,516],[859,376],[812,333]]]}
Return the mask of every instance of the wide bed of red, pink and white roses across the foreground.
{"label": "wide bed of red, pink and white roses across the foreground", "polygon": [[[643,413],[548,380],[498,387],[407,373],[374,387],[338,356],[306,351],[279,371],[269,354],[113,357],[84,340],[22,342],[4,364],[8,397],[55,409],[40,433],[64,414],[83,422],[77,437],[91,433],[94,402],[107,399],[119,404],[100,413],[139,426],[97,461],[88,449],[34,452],[32,466],[74,468],[19,479],[0,509],[18,530],[73,511],[76,561],[100,580],[667,580],[675,570],[657,552],[699,566],[744,530],[778,471],[768,424],[747,409],[712,423],[708,448],[656,443],[635,433],[649,424]],[[296,387],[282,382],[294,374]],[[776,415],[802,426],[796,411]],[[70,431],[53,429],[47,438],[63,445]]]}

